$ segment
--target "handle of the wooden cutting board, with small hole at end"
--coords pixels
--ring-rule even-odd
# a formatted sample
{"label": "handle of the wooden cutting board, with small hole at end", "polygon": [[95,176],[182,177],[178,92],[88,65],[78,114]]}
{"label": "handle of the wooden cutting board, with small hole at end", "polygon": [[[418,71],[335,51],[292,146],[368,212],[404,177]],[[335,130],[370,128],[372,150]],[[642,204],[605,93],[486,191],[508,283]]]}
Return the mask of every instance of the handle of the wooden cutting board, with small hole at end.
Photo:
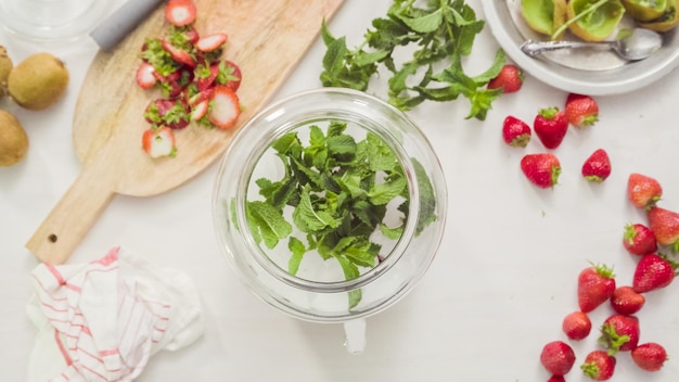
{"label": "handle of the wooden cutting board, with small hole at end", "polygon": [[112,183],[95,175],[95,168],[84,168],[26,243],[40,260],[65,263],[113,199]]}

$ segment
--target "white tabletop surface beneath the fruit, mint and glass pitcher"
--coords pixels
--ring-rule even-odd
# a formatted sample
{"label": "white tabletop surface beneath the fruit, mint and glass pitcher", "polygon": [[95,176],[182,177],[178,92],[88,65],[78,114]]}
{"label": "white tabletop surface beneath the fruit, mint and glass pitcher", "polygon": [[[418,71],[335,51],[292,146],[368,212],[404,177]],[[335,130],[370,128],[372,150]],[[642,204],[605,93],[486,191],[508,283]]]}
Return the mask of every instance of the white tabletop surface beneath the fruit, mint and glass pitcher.
{"label": "white tabletop surface beneath the fruit, mint and glass pitcher", "polygon": [[[330,23],[358,44],[388,0],[347,0]],[[481,1],[469,1],[483,17]],[[63,59],[72,80],[66,97],[42,112],[5,101],[25,126],[30,150],[13,167],[0,168],[0,374],[25,379],[35,329],[25,315],[36,258],[24,247],[80,170],[71,122],[82,78],[97,47],[89,40],[39,46],[0,31],[15,62],[47,50]],[[498,48],[488,27],[466,61],[485,69]],[[319,87],[324,48],[317,41],[277,98]],[[244,68],[246,71],[246,68]],[[485,122],[464,119],[465,99],[426,104],[409,112],[440,156],[449,188],[447,232],[433,266],[418,288],[388,310],[368,319],[362,355],[345,352],[342,327],[302,322],[268,307],[234,277],[213,231],[210,196],[216,165],[165,194],[117,195],[72,263],[102,256],[121,245],[152,262],[185,271],[204,304],[204,336],[176,353],[154,356],[139,381],[546,381],[542,345],[564,340],[561,320],[577,308],[575,288],[588,262],[615,266],[618,284],[631,282],[635,260],[620,243],[627,222],[644,216],[626,201],[627,177],[639,171],[665,189],[663,205],[679,209],[679,73],[633,93],[600,97],[601,120],[571,129],[553,151],[563,174],[553,190],[539,190],[518,162],[543,151],[507,147],[501,124],[513,114],[530,122],[539,107],[563,105],[566,93],[529,76],[518,93],[496,101]],[[105,91],[105,89],[102,89]],[[601,184],[580,177],[582,161],[608,151],[613,175]],[[639,371],[619,355],[614,381],[677,381],[679,378],[679,285],[648,295],[638,314],[641,342],[658,341],[674,356],[657,373]],[[594,327],[611,313],[592,315]],[[594,334],[575,343],[576,368],[595,344]],[[568,381],[585,381],[579,370]]]}

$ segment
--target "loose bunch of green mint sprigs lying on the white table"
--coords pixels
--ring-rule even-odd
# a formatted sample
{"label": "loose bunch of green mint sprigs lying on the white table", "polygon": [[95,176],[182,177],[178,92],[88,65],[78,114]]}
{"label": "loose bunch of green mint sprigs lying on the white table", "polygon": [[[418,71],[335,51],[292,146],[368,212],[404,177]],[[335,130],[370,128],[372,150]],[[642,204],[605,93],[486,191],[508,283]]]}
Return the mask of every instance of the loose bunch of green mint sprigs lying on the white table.
{"label": "loose bunch of green mint sprigs lying on the white table", "polygon": [[[470,76],[463,58],[472,52],[484,21],[462,0],[430,0],[423,8],[414,0],[395,0],[386,17],[375,18],[372,29],[356,49],[347,48],[345,37],[332,35],[323,22],[321,36],[326,47],[322,60],[321,84],[366,91],[371,79],[384,67],[390,72],[387,99],[407,111],[424,101],[448,102],[460,96],[471,103],[466,118],[484,120],[492,101],[501,91],[487,89],[505,55],[498,50],[491,66]],[[398,63],[398,48],[411,49],[408,59]],[[443,69],[439,69],[444,67]]]}

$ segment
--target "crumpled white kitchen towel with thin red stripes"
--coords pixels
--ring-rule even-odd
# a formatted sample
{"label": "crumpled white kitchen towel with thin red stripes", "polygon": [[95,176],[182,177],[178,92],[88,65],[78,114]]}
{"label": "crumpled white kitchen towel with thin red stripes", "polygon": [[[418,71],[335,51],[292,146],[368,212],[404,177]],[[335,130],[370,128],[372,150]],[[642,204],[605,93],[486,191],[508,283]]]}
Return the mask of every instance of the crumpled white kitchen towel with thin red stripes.
{"label": "crumpled white kitchen towel with thin red stripes", "polygon": [[27,381],[132,381],[161,349],[203,333],[183,273],[115,247],[80,265],[40,264],[27,314],[38,328]]}

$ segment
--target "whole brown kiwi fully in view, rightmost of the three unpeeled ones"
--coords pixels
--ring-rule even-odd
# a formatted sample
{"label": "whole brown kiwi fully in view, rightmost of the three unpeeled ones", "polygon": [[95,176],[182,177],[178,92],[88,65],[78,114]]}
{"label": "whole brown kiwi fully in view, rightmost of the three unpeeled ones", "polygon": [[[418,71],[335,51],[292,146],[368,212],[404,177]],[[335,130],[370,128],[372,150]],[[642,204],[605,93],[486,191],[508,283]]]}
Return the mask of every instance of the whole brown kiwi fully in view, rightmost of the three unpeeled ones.
{"label": "whole brown kiwi fully in view, rightmost of the three unpeeled ones", "polygon": [[20,106],[43,110],[66,91],[68,69],[50,53],[35,53],[16,65],[8,78],[10,97]]}

